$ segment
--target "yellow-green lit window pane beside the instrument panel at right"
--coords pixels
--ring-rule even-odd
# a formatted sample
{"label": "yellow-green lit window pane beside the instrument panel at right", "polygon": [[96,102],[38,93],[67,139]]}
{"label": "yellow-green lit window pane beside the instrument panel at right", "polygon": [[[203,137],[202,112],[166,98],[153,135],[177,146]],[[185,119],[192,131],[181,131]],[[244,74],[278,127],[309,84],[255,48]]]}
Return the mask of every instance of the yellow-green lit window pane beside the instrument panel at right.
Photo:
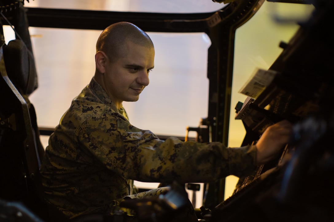
{"label": "yellow-green lit window pane beside the instrument panel at right", "polygon": [[[233,83],[228,145],[239,147],[245,135],[241,120],[235,120],[235,105],[244,102],[238,93],[256,68],[268,69],[280,53],[281,41],[289,42],[299,28],[297,22],[309,17],[313,5],[274,3],[265,1],[259,11],[236,30]],[[238,178],[226,178],[225,199],[231,196]]]}

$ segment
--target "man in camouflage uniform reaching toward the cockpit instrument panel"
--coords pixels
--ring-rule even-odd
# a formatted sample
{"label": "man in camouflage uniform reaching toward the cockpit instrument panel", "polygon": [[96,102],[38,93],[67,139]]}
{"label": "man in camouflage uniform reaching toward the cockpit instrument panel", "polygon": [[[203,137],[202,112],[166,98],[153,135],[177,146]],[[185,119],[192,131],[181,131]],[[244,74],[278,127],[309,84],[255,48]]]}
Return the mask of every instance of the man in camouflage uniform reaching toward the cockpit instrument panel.
{"label": "man in camouflage uniform reaching toward the cockpit instrument panel", "polygon": [[112,214],[124,197],[143,197],[131,195],[133,180],[187,183],[243,175],[275,157],[289,140],[287,121],[269,127],[256,146],[159,140],[131,125],[122,106],[137,101],[149,84],[154,68],[149,36],[120,22],[102,32],[96,48],[95,75],[62,116],[41,165],[47,200],[70,218]]}

